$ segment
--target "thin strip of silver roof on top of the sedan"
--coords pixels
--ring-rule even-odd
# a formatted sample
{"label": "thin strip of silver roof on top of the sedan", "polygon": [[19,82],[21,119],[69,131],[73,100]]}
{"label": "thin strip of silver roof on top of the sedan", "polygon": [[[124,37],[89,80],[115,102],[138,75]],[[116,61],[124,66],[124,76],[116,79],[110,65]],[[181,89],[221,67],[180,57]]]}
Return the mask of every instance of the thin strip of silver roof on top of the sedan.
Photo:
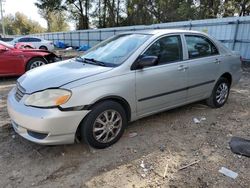
{"label": "thin strip of silver roof on top of the sedan", "polygon": [[202,33],[199,31],[193,31],[193,30],[184,30],[184,29],[150,29],[150,30],[138,30],[138,31],[130,31],[126,33],[140,33],[140,34],[150,34],[150,35],[156,35],[156,34],[169,34],[169,33]]}

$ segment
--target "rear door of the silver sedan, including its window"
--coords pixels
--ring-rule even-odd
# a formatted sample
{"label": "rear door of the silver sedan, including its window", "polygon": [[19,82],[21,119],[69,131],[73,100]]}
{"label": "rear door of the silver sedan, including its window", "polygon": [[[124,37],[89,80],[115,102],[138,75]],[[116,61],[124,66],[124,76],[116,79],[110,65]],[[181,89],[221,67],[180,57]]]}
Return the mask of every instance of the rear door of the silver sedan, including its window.
{"label": "rear door of the silver sedan, including its window", "polygon": [[188,101],[210,96],[220,72],[221,57],[215,44],[203,35],[185,35],[188,52]]}

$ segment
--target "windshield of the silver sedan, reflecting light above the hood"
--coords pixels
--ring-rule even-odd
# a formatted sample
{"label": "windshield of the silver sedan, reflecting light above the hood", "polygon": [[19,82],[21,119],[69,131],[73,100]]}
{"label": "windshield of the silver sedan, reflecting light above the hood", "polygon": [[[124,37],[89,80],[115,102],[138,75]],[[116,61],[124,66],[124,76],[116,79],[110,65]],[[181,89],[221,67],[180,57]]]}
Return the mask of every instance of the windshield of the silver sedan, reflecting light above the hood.
{"label": "windshield of the silver sedan, reflecting light above the hood", "polygon": [[107,66],[118,66],[150,37],[148,34],[117,35],[89,50],[82,59],[99,61]]}

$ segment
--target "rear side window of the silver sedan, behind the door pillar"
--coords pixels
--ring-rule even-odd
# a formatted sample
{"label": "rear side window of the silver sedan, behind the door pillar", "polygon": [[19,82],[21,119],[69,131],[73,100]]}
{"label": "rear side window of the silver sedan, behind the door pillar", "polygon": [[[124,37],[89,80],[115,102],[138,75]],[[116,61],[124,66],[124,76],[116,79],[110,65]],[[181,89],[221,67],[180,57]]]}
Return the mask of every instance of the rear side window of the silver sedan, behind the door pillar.
{"label": "rear side window of the silver sedan, behind the door pillar", "polygon": [[219,54],[215,45],[206,37],[186,35],[189,59]]}

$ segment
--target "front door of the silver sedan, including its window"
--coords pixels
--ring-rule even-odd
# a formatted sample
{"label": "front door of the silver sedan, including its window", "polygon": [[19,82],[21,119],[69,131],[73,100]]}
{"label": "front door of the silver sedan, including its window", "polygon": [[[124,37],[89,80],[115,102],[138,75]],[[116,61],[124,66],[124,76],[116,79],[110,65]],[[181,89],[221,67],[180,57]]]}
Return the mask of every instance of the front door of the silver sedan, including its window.
{"label": "front door of the silver sedan, including its window", "polygon": [[136,70],[137,115],[145,116],[185,102],[187,71],[181,36],[161,37],[141,56],[158,56],[158,64]]}

